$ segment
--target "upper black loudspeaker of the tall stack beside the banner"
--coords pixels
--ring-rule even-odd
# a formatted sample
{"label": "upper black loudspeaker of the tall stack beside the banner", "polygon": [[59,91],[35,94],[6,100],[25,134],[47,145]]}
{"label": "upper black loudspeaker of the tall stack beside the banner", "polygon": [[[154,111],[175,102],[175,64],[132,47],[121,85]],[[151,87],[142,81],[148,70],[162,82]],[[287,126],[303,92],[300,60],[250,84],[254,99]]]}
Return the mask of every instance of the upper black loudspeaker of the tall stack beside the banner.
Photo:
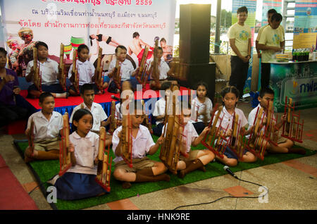
{"label": "upper black loudspeaker of the tall stack beside the banner", "polygon": [[180,62],[209,63],[211,4],[180,5]]}

